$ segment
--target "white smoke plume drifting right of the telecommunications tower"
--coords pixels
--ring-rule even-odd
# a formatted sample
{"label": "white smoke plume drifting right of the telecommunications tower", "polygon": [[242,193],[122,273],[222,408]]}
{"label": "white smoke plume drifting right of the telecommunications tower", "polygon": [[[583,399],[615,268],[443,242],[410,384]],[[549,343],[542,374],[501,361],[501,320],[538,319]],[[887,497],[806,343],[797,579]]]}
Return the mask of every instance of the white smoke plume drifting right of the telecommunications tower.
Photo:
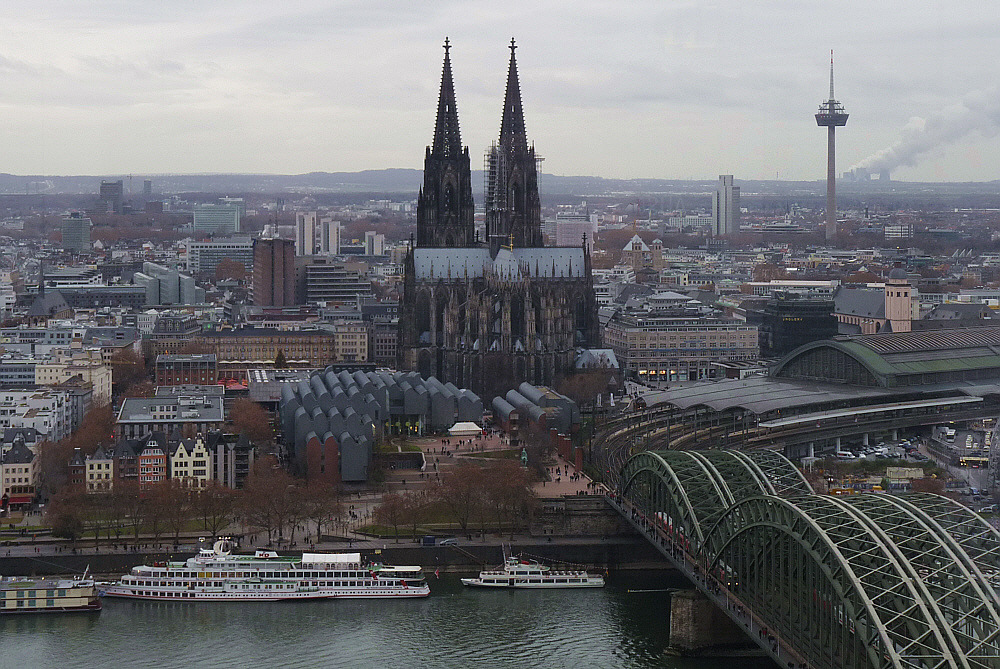
{"label": "white smoke plume drifting right of the telecommunications tower", "polygon": [[948,144],[978,132],[992,136],[1000,130],[1000,89],[973,91],[958,104],[945,107],[927,118],[912,117],[903,126],[902,137],[889,148],[873,153],[853,165],[851,171],[871,174],[911,167]]}

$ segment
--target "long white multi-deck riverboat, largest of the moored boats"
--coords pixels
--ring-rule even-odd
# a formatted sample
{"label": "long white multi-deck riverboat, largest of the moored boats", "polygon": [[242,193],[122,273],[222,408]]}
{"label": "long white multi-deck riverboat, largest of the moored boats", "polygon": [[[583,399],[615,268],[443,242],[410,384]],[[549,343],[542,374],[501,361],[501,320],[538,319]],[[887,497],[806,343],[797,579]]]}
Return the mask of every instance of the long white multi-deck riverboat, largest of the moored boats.
{"label": "long white multi-deck riverboat, largest of the moored boats", "polygon": [[185,562],[134,567],[102,594],[178,602],[279,601],[426,597],[430,588],[420,567],[366,563],[360,553],[239,555],[232,553],[231,542],[220,540]]}

